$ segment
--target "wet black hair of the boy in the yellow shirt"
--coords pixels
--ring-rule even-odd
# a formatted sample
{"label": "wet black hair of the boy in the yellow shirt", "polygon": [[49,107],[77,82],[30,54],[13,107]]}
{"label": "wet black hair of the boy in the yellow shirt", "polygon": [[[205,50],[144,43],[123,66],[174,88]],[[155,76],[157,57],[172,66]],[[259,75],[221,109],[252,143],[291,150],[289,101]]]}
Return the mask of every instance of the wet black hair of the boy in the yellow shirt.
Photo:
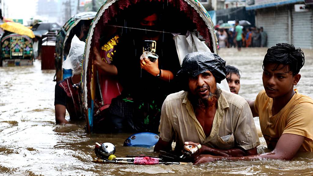
{"label": "wet black hair of the boy in the yellow shirt", "polygon": [[[295,46],[292,44],[281,43],[267,49],[262,68],[264,70],[264,65],[266,64],[276,64],[273,69],[273,71],[275,71],[289,65],[290,70],[288,70],[288,72],[292,72],[292,75],[296,75],[303,67],[304,61],[304,53],[300,48],[295,49]],[[284,66],[278,68],[280,64]]]}

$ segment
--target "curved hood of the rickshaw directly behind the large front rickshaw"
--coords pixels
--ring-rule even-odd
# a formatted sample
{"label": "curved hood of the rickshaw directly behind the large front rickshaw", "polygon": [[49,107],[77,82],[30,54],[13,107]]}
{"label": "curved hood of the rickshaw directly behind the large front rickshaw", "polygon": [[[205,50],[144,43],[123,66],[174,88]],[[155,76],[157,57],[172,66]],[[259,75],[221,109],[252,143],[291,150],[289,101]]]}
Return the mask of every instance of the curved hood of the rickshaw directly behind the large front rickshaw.
{"label": "curved hood of the rickshaw directly behind the large front rickshaw", "polygon": [[96,12],[77,13],[59,30],[55,45],[55,69],[57,82],[72,76],[71,70],[62,69],[62,62],[66,59],[66,56],[69,53],[73,36],[75,34],[80,35],[80,25],[85,24],[85,26],[90,26],[90,23],[95,15]]}

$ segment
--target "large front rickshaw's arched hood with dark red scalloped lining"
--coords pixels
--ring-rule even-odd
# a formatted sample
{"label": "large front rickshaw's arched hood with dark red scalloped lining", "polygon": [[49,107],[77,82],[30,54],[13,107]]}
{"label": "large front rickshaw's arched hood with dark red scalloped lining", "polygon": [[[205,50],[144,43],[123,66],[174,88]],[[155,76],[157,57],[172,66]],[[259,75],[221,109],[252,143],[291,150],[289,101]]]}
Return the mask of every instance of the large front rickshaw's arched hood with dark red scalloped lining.
{"label": "large front rickshaw's arched hood with dark red scalloped lining", "polygon": [[[187,31],[194,32],[198,40],[202,40],[202,44],[205,42],[209,51],[217,54],[217,39],[212,20],[198,0],[106,1],[94,18],[85,45],[81,89],[87,132],[93,132],[94,116],[108,108],[112,98],[119,96],[123,89],[116,77],[104,75],[94,65],[93,48],[99,48],[100,54],[102,52],[102,60],[111,63],[111,56],[115,52],[114,46],[118,45],[119,37],[123,37],[122,34],[127,31],[137,29],[129,25],[129,20],[134,19],[131,14],[134,13],[137,4],[152,2],[158,4],[154,8],[162,11],[162,19],[165,21],[159,32],[182,35],[185,35]],[[145,29],[139,30],[146,31]],[[179,44],[176,43],[176,45]],[[178,52],[178,49],[173,52]],[[182,64],[183,57],[179,57],[180,64]]]}

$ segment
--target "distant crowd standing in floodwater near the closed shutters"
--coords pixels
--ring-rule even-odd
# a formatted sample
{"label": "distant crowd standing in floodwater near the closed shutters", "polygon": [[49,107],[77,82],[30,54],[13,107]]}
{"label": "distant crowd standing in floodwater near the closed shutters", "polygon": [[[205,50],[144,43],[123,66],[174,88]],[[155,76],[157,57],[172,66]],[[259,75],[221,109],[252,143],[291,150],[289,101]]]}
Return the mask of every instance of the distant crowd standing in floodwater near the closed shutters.
{"label": "distant crowd standing in floodwater near the closed shutters", "polygon": [[215,27],[219,48],[266,47],[267,33],[263,27],[243,27],[238,22],[234,28]]}

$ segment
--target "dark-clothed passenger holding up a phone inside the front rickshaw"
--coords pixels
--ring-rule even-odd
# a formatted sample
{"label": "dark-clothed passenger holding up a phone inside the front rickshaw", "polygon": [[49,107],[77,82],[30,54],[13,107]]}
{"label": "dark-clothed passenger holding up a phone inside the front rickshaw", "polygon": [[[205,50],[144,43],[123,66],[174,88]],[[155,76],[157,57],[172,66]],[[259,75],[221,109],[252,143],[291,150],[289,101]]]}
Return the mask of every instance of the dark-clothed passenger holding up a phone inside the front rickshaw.
{"label": "dark-clothed passenger holding up a phone inside the front rickshaw", "polygon": [[[123,28],[118,34],[112,64],[103,61],[94,48],[95,65],[106,74],[117,75],[123,87],[121,95],[95,117],[96,131],[157,132],[163,101],[167,95],[180,91],[175,80],[180,68],[175,42],[172,34],[160,32],[167,23],[162,13],[153,10],[159,9],[156,6],[151,2],[138,3],[136,9],[130,9],[138,13],[130,17],[135,20],[128,18],[133,28]],[[142,52],[146,40],[156,41],[158,59],[154,62]]]}

